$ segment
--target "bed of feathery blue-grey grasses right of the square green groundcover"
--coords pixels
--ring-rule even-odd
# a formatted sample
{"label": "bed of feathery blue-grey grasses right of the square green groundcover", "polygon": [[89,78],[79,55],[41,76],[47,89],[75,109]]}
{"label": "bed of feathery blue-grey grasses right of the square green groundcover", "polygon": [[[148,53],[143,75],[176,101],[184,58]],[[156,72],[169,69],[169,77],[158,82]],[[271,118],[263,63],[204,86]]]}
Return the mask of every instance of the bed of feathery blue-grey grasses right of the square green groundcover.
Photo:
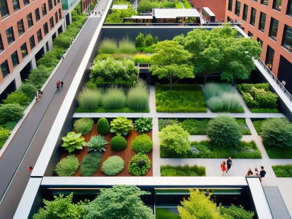
{"label": "bed of feathery blue-grey grasses right of the square green groundcover", "polygon": [[244,112],[240,103],[241,97],[234,93],[231,84],[206,84],[204,95],[212,112]]}

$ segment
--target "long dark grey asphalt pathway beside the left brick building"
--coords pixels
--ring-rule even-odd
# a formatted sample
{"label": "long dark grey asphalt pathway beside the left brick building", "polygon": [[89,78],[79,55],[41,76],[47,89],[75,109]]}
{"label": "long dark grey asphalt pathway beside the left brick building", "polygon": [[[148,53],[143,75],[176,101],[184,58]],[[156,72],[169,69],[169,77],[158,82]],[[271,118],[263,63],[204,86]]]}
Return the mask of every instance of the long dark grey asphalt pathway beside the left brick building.
{"label": "long dark grey asphalt pathway beside the left brick building", "polygon": [[[101,2],[102,1],[107,2],[107,0],[101,0]],[[103,4],[102,7],[105,8],[106,4]],[[0,159],[1,197],[16,172],[0,205],[1,218],[13,218],[30,178],[28,167],[34,166],[39,157],[47,135],[54,123],[100,19],[101,18],[89,18],[76,39],[76,42],[73,44],[72,48],[70,48],[70,51],[44,89],[44,94],[40,101],[32,107]],[[56,82],[58,80],[63,81],[64,86],[63,88],[60,87],[57,91]],[[19,166],[22,159],[23,161]]]}

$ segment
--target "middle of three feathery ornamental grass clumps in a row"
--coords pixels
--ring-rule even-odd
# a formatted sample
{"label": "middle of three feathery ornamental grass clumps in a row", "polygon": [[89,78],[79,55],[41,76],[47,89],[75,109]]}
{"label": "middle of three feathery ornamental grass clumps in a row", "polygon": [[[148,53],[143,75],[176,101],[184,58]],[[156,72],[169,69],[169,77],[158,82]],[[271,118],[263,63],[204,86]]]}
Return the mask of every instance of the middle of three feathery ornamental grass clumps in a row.
{"label": "middle of three feathery ornamental grass clumps in a row", "polygon": [[105,109],[120,109],[125,107],[126,95],[120,88],[109,88],[103,94],[101,102]]}

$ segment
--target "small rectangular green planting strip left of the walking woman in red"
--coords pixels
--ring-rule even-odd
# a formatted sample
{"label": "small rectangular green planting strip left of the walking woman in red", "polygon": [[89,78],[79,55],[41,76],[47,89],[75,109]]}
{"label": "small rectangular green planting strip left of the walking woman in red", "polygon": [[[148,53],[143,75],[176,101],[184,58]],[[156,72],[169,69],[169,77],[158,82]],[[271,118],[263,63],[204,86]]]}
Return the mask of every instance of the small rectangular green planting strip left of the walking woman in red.
{"label": "small rectangular green planting strip left of the walking woman in red", "polygon": [[161,176],[206,176],[206,168],[204,166],[160,166]]}

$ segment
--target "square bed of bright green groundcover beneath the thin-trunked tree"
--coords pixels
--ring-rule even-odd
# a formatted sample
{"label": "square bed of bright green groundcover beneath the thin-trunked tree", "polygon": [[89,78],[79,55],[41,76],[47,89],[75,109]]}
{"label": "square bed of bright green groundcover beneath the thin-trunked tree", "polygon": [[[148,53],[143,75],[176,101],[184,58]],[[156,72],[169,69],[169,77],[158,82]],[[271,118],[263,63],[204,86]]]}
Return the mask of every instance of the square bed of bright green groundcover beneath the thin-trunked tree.
{"label": "square bed of bright green groundcover beneath the thin-trunked tree", "polygon": [[202,89],[197,84],[155,84],[157,112],[207,112]]}

